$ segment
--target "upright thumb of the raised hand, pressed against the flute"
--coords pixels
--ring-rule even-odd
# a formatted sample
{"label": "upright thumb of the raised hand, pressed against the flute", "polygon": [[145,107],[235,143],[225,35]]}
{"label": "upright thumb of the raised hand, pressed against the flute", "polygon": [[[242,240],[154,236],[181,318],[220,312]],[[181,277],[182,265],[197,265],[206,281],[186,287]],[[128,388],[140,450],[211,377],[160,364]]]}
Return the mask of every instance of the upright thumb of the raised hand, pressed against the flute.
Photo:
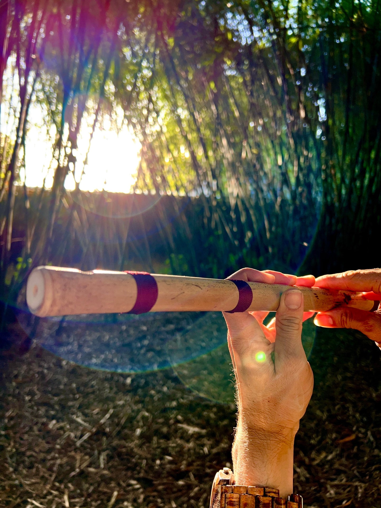
{"label": "upright thumb of the raised hand, pressed against the flute", "polygon": [[304,357],[302,346],[304,300],[301,291],[291,289],[280,297],[275,315],[275,352],[278,360],[288,357]]}

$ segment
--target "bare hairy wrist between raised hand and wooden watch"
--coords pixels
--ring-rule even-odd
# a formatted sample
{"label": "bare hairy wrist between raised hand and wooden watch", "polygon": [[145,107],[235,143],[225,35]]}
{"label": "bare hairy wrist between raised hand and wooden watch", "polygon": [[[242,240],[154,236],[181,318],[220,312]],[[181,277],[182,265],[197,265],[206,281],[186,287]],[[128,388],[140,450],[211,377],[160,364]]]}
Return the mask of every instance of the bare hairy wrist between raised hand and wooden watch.
{"label": "bare hairy wrist between raised hand and wooden watch", "polygon": [[277,488],[282,497],[292,494],[297,430],[280,434],[248,429],[240,417],[232,449],[235,483]]}

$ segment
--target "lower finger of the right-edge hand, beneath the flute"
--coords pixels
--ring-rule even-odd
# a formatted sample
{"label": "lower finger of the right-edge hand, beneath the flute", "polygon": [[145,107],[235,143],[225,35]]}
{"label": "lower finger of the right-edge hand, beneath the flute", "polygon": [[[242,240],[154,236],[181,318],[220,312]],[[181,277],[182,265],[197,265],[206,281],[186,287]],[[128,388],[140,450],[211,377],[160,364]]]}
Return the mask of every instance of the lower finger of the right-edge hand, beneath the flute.
{"label": "lower finger of the right-edge hand, beneath the flute", "polygon": [[381,342],[381,312],[337,307],[316,314],[314,323],[325,328],[353,328],[375,342]]}

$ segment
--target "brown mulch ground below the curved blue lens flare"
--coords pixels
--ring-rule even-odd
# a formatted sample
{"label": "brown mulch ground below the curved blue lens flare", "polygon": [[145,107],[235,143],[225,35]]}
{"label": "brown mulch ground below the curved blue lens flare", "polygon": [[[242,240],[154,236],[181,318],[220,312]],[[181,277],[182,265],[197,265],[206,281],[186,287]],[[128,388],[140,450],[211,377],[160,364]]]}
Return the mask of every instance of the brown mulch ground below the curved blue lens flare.
{"label": "brown mulch ground below the curved blue lens flare", "polygon": [[[305,506],[381,506],[380,358],[360,334],[317,334],[295,443]],[[90,370],[35,344],[1,365],[1,506],[209,505],[215,471],[231,463],[234,406],[171,369]]]}

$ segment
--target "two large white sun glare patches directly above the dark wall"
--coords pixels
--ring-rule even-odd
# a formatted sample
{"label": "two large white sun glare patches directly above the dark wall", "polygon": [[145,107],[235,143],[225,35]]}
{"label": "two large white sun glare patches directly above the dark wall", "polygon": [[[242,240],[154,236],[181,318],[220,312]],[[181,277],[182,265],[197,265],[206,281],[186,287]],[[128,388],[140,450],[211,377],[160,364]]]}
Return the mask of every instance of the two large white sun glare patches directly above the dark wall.
{"label": "two large white sun glare patches directly above the dark wall", "polygon": [[[77,148],[71,142],[69,125],[63,133],[66,154],[69,158],[69,171],[65,188],[74,190],[79,184],[80,190],[88,192],[129,193],[136,182],[140,163],[141,145],[132,129],[123,120],[123,111],[116,111],[116,121],[111,122],[108,114],[103,115],[102,123],[97,122],[92,134],[91,114],[84,113]],[[47,128],[44,112],[39,104],[34,104],[29,113],[30,124],[25,140],[25,183],[28,187],[50,188],[53,184],[56,158],[52,158],[52,146],[55,127]],[[91,136],[92,134],[92,136]],[[23,175],[20,174],[22,181]]]}

